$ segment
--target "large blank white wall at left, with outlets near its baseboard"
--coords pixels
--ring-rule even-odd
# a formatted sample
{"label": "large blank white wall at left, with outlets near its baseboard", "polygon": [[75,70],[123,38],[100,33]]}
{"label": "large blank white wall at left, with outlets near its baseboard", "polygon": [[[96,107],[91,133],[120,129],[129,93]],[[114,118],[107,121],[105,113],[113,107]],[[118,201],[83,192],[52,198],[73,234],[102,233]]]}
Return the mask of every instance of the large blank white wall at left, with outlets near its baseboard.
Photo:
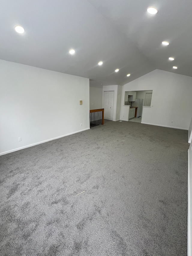
{"label": "large blank white wall at left, with outlets near its baseboard", "polygon": [[89,79],[0,60],[0,80],[1,155],[89,129]]}

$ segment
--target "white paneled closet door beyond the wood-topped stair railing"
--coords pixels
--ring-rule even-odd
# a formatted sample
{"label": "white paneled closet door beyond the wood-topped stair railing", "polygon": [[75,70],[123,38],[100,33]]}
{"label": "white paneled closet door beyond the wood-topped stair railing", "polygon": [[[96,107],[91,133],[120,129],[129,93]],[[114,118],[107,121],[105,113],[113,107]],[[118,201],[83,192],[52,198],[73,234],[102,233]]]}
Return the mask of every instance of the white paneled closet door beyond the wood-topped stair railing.
{"label": "white paneled closet door beyond the wood-topped stair railing", "polygon": [[113,120],[114,91],[104,92],[104,119]]}

